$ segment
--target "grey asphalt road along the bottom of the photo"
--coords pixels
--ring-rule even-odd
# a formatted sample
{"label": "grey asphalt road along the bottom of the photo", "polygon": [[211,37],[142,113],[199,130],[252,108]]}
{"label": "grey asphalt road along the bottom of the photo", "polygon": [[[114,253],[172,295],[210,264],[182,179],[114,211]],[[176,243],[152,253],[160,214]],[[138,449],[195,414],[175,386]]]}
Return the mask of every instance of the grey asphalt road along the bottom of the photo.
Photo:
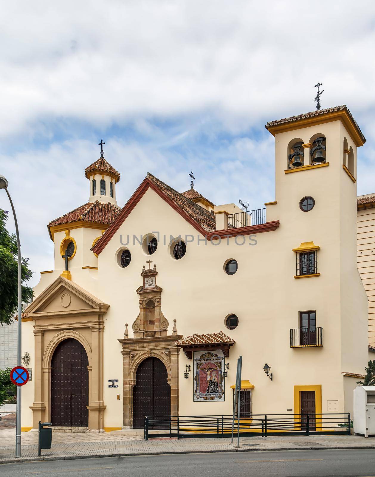
{"label": "grey asphalt road along the bottom of the photo", "polygon": [[375,476],[374,449],[172,454],[0,464],[7,477]]}

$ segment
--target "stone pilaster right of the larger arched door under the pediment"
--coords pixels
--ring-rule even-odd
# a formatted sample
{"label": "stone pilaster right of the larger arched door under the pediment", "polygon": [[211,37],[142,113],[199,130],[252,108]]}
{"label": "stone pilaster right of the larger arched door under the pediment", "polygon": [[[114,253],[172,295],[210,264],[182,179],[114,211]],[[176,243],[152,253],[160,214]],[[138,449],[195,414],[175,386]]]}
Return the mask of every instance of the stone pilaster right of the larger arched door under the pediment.
{"label": "stone pilaster right of the larger arched door under the pediment", "polygon": [[[103,331],[104,324],[90,326],[92,338],[91,373],[89,370],[89,431],[104,432]],[[91,386],[90,386],[91,374]]]}

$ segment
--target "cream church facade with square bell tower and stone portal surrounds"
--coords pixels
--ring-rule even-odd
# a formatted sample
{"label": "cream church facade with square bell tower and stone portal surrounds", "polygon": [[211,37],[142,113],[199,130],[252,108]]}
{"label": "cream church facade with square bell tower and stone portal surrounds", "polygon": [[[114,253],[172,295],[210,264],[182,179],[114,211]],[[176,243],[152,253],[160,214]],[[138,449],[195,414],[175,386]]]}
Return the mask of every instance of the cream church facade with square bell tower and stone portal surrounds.
{"label": "cream church facade with square bell tower and stone portal surrounds", "polygon": [[[189,220],[146,178],[104,232],[100,250],[95,248],[98,256],[91,249],[102,235],[99,224],[97,228],[68,224],[55,231],[55,270],[42,273],[26,310],[29,321],[23,323],[22,352],[31,354],[35,376],[22,391],[24,428],[50,419],[51,357],[64,337],[75,337],[89,357],[91,430],[133,425],[136,370],[147,356],[158,357],[166,366],[172,414],[231,414],[230,386],[240,355],[242,379],[254,386],[254,414],[288,409],[299,413],[300,393],[311,390],[317,413],[327,412],[331,401],[337,401],[338,412],[352,412],[356,379],[344,374],[363,374],[368,361],[367,296],[357,270],[352,180],[356,147],[363,143],[353,122],[333,114],[269,130],[275,136],[275,197],[267,206],[264,225],[228,228],[227,217],[238,207],[216,206],[216,230],[205,240],[204,227]],[[326,162],[311,165],[311,144],[321,135],[326,139]],[[296,139],[304,145],[304,166],[288,169]],[[353,151],[353,173],[343,167],[344,149]],[[315,200],[309,212],[299,206],[306,196]],[[152,256],[138,241],[150,235],[158,240]],[[76,243],[69,260],[71,280],[61,277],[60,247],[67,237]],[[178,237],[187,249],[179,260],[173,258],[170,246],[170,239]],[[317,273],[298,277],[292,249],[308,242],[319,248]],[[124,249],[131,253],[126,268],[119,263]],[[141,272],[144,266],[147,270],[149,259],[151,267],[156,265],[162,289],[155,303],[160,304],[167,328],[159,328],[160,332],[155,328],[155,336],[147,338],[136,336],[134,323],[143,306],[136,290],[144,284]],[[234,275],[224,270],[229,259],[238,262]],[[71,299],[63,304],[64,294]],[[323,346],[291,347],[290,332],[300,327],[300,311],[316,311]],[[230,314],[239,318],[233,330],[225,325]],[[225,400],[194,402],[193,373],[189,379],[183,374],[193,360],[174,342],[194,333],[219,331],[235,340],[225,358],[229,363]],[[271,366],[272,381],[263,371],[265,363]],[[109,388],[109,379],[118,379],[119,387]]]}

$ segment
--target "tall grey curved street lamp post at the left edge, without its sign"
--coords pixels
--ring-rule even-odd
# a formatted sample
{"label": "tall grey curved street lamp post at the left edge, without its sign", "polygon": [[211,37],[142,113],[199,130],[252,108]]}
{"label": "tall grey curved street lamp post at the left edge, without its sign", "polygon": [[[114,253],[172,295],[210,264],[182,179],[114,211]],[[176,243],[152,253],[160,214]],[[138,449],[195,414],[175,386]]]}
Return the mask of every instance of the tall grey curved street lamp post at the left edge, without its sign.
{"label": "tall grey curved street lamp post at the left edge, without its sign", "polygon": [[[8,181],[0,175],[0,189],[5,189],[12,207],[14,224],[16,226],[17,249],[18,249],[18,322],[17,322],[17,366],[21,366],[21,325],[22,325],[22,288],[21,288],[21,245],[20,234],[16,212],[14,210],[12,199],[8,192]],[[17,407],[16,407],[16,457],[21,457],[21,386],[17,386]]]}

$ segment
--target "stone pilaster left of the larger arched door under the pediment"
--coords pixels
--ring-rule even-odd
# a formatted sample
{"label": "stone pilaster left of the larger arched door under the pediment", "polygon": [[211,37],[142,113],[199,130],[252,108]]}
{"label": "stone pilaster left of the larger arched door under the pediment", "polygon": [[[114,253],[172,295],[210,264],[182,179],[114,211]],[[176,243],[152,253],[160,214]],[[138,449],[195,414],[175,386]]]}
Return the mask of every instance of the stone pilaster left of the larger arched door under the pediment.
{"label": "stone pilaster left of the larger arched door under the pediment", "polygon": [[[32,427],[38,429],[38,422],[45,421],[44,414],[46,405],[44,403],[44,393],[43,393],[43,335],[44,330],[36,329],[33,331],[35,339],[35,369],[34,369],[34,402],[30,409],[32,409]],[[47,391],[48,392],[48,391]]]}

